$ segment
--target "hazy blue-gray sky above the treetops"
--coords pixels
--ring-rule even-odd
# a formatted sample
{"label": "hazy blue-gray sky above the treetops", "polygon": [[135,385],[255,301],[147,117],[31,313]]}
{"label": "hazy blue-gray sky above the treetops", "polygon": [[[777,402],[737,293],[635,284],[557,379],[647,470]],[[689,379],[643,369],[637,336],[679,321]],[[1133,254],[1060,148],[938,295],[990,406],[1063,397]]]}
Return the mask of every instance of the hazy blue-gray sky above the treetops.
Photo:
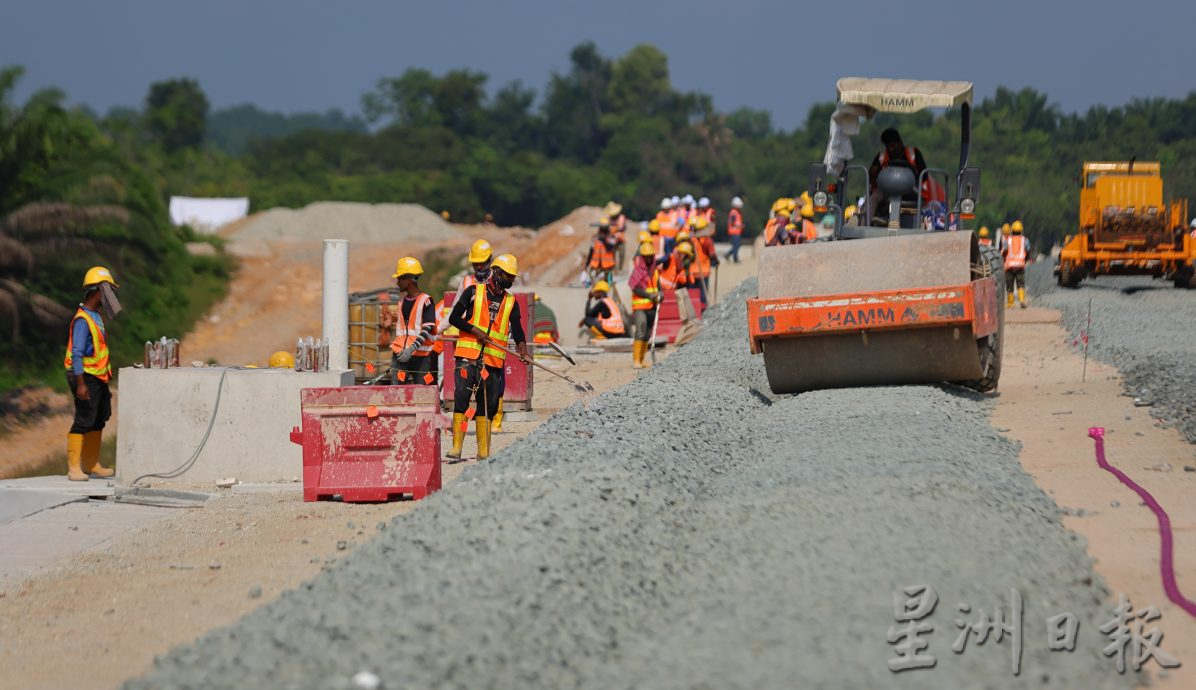
{"label": "hazy blue-gray sky above the treetops", "polygon": [[[915,8],[916,7],[916,8]],[[899,17],[898,17],[899,13]],[[360,110],[382,77],[469,67],[537,92],[594,41],[667,55],[673,84],[800,123],[843,75],[1032,86],[1064,111],[1196,90],[1191,0],[0,0],[0,65],[99,111],[193,77],[213,108]]]}

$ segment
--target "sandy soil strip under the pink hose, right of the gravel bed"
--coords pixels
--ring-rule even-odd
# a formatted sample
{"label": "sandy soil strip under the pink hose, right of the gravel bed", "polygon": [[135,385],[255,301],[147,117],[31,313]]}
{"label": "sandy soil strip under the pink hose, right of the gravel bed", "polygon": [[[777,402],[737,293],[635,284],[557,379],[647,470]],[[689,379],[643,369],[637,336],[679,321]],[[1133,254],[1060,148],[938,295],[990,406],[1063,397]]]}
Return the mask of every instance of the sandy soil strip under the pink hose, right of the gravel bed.
{"label": "sandy soil strip under the pink hose, right of the gravel bed", "polygon": [[[1176,429],[1161,428],[1149,408],[1122,395],[1112,367],[1070,348],[1054,310],[1007,312],[1005,367],[993,425],[1023,444],[1021,465],[1061,508],[1063,524],[1084,536],[1097,573],[1135,611],[1149,605],[1163,617],[1147,624],[1164,633],[1161,647],[1183,666],[1166,674],[1149,664],[1160,688],[1196,688],[1196,619],[1167,600],[1159,575],[1154,513],[1136,494],[1097,465],[1088,427],[1104,427],[1109,463],[1128,474],[1171,515],[1179,588],[1196,597],[1196,446]],[[1110,659],[1109,672],[1115,673]]]}

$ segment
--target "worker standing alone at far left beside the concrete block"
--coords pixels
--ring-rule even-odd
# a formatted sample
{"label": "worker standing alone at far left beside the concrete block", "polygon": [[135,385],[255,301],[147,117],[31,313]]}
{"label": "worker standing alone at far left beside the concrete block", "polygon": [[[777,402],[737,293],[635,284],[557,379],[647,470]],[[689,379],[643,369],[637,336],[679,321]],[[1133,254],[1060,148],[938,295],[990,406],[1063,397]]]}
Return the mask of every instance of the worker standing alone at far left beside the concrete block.
{"label": "worker standing alone at far left beside the concrete block", "polygon": [[97,265],[90,269],[83,279],[83,301],[71,319],[62,366],[75,404],[74,421],[67,433],[67,478],[73,482],[116,474],[99,464],[99,444],[104,425],[112,416],[112,392],[108,387],[108,381],[112,380],[112,365],[109,361],[105,322],[121,313],[117,287],[106,268]]}

